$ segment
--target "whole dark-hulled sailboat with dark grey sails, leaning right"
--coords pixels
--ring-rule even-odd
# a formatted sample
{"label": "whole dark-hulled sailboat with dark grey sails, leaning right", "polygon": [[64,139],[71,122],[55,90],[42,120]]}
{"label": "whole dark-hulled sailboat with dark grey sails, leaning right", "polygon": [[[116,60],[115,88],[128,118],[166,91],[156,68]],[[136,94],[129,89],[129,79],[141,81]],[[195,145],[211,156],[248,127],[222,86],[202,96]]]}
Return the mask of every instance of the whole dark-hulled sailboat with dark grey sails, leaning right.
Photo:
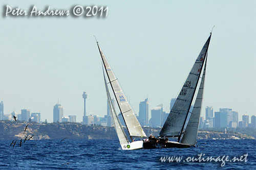
{"label": "whole dark-hulled sailboat with dark grey sails, leaning right", "polygon": [[[205,42],[194,66],[182,86],[180,93],[170,110],[170,113],[160,131],[159,137],[175,137],[177,141],[168,141],[164,144],[156,145],[152,142],[145,142],[144,149],[150,148],[187,148],[196,145],[201,107],[203,101],[204,79],[206,71],[207,52],[210,43],[211,33]],[[204,68],[204,69],[203,69]],[[203,69],[203,72],[202,72]],[[199,80],[201,83],[198,88]],[[196,91],[198,90],[193,111],[189,108],[193,102]],[[190,114],[187,126],[185,124]],[[181,141],[180,141],[181,140]]]}

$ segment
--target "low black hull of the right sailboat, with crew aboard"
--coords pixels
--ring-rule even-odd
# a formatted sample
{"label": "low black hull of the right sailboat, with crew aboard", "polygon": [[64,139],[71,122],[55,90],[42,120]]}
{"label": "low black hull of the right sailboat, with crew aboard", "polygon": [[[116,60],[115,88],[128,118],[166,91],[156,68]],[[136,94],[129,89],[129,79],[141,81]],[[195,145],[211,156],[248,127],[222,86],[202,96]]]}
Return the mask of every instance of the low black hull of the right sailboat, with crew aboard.
{"label": "low black hull of the right sailboat, with crew aboard", "polygon": [[168,141],[163,144],[153,143],[153,142],[144,142],[143,149],[156,149],[156,148],[190,148],[191,145],[183,144],[179,142]]}

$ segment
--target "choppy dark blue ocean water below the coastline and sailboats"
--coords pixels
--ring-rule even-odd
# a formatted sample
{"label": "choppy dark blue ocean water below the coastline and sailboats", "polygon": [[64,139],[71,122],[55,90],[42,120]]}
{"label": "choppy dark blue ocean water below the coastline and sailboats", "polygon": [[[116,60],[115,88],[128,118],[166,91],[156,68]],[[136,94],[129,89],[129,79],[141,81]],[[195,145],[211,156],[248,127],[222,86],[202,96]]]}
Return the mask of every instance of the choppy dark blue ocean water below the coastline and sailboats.
{"label": "choppy dark blue ocean water below the coastline and sailboats", "polygon": [[[256,140],[198,140],[195,148],[123,151],[117,140],[0,140],[0,169],[255,169]],[[191,157],[229,156],[243,161],[192,162]],[[180,162],[161,162],[163,156],[182,156]],[[226,158],[226,157],[225,157]],[[186,162],[186,159],[188,162]],[[225,160],[225,159],[223,159]],[[241,159],[242,160],[242,159]],[[185,162],[184,162],[185,161]],[[67,164],[68,163],[68,164]]]}

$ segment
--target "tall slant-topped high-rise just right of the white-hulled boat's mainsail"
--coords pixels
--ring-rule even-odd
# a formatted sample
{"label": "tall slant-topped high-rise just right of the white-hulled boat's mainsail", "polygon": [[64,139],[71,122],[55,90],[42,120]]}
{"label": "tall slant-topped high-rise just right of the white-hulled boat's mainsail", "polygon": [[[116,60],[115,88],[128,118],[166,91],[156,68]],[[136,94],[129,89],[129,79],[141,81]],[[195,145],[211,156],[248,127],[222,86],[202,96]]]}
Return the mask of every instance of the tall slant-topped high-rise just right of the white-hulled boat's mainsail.
{"label": "tall slant-topped high-rise just right of the white-hulled boat's mainsail", "polygon": [[147,98],[139,105],[139,122],[141,126],[148,125],[148,100]]}

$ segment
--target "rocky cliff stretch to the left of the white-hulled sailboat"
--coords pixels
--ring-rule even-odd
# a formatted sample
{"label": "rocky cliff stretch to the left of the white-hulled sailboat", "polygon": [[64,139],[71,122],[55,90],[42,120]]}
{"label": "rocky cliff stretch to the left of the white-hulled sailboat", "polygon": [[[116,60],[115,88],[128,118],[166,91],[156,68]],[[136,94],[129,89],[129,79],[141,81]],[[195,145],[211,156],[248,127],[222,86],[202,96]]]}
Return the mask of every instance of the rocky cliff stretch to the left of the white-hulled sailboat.
{"label": "rocky cliff stretch to the left of the white-hulled sailboat", "polygon": [[[26,126],[28,128],[24,132]],[[113,127],[94,127],[81,124],[36,124],[0,122],[0,139],[19,139],[34,135],[34,139],[117,139]]]}

